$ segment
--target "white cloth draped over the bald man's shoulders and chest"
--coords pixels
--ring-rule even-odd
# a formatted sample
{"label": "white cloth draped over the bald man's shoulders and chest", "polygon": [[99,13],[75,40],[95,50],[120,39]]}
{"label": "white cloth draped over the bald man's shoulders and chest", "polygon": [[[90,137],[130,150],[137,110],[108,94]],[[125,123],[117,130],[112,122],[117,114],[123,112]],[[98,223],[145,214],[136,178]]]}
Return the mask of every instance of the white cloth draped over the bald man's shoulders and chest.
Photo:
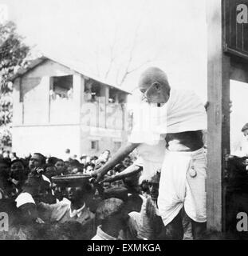
{"label": "white cloth draped over the bald man's shoulders and chest", "polygon": [[191,90],[174,90],[161,107],[142,102],[134,109],[134,126],[129,142],[155,145],[160,134],[206,130],[207,113],[200,98]]}

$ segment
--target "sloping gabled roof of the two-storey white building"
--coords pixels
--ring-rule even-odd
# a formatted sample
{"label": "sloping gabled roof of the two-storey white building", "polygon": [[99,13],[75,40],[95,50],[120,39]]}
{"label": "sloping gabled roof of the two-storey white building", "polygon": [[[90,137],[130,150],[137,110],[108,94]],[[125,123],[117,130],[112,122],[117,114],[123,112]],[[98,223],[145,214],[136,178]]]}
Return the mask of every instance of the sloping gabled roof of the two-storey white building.
{"label": "sloping gabled roof of the two-storey white building", "polygon": [[43,55],[39,58],[36,58],[34,60],[32,60],[28,66],[26,66],[26,68],[20,68],[16,74],[14,74],[11,78],[10,81],[14,81],[16,78],[18,77],[22,77],[22,75],[26,74],[28,71],[32,70],[34,67],[39,66],[41,63],[47,61],[47,60],[51,60],[53,62],[57,62],[59,64],[61,64],[62,66],[65,66],[67,68],[69,68],[70,70],[73,70],[81,75],[83,75],[86,78],[91,78],[93,80],[95,80],[96,82],[100,82],[101,84],[104,84],[106,86],[110,86],[113,88],[116,88],[116,90],[120,90],[123,91],[126,94],[131,94],[130,91],[128,90],[124,90],[123,88],[120,88],[118,86],[113,86],[112,84],[110,84],[110,82],[108,81],[103,81],[100,78],[96,78],[95,75],[93,74],[89,74],[89,72],[85,72],[85,70],[83,70],[81,63],[80,62],[75,62],[75,61],[70,61],[70,60],[59,60],[57,58],[50,58],[47,55]]}

